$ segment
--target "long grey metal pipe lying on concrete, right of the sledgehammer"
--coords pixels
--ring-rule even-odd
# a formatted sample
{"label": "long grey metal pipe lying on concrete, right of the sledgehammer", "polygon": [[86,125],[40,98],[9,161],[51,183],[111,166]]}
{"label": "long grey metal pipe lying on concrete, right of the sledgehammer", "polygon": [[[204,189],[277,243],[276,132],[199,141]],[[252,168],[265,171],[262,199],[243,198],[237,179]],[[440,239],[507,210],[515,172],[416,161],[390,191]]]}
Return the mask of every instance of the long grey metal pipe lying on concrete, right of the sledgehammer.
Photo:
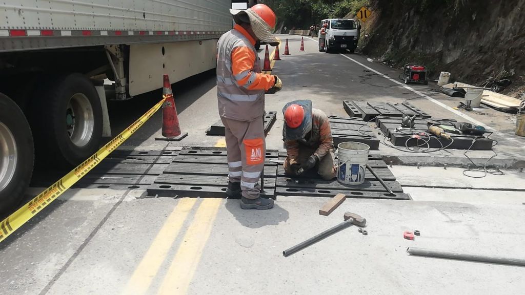
{"label": "long grey metal pipe lying on concrete, right of the sledgehammer", "polygon": [[453,251],[442,251],[442,250],[414,248],[414,247],[409,247],[406,249],[406,251],[410,255],[417,255],[417,256],[487,262],[491,264],[525,266],[525,259],[506,258],[506,257],[497,257],[497,256],[492,256],[492,257],[491,256],[481,256],[481,255],[463,254],[463,253],[458,253],[458,252],[453,252]]}

